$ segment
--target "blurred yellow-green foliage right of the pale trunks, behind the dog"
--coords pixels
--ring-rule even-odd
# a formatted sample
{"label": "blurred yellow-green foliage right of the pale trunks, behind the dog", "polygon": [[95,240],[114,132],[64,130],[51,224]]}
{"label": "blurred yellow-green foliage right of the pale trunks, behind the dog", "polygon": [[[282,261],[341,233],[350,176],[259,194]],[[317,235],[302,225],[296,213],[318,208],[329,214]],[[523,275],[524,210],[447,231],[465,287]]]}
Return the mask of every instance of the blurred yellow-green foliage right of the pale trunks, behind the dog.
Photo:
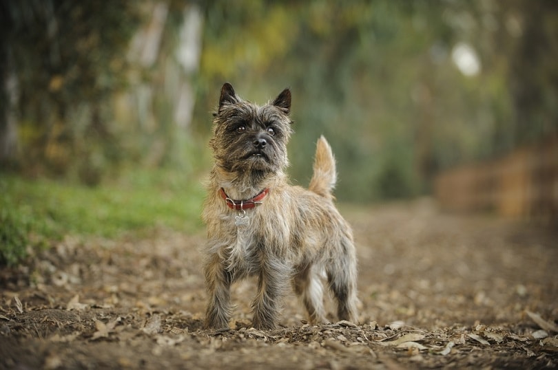
{"label": "blurred yellow-green foliage right of the pale trunks, behind the dog", "polygon": [[[223,80],[263,101],[290,85],[296,181],[309,179],[324,133],[340,167],[340,199],[413,196],[440,168],[558,133],[548,62],[558,54],[556,10],[552,1],[212,2],[204,99],[215,102]],[[457,43],[479,55],[477,75],[455,67]],[[534,86],[544,99],[521,92]]]}

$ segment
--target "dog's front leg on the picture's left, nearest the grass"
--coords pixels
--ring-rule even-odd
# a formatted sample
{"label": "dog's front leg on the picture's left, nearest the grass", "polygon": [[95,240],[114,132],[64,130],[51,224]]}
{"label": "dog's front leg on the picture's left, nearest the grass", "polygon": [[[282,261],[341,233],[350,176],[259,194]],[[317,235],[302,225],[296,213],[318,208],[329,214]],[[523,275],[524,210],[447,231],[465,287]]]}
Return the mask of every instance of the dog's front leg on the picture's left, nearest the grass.
{"label": "dog's front leg on the picture's left, nearest the grass", "polygon": [[209,294],[205,326],[208,328],[227,328],[231,318],[232,276],[225,269],[218,254],[213,254],[205,264],[205,285]]}

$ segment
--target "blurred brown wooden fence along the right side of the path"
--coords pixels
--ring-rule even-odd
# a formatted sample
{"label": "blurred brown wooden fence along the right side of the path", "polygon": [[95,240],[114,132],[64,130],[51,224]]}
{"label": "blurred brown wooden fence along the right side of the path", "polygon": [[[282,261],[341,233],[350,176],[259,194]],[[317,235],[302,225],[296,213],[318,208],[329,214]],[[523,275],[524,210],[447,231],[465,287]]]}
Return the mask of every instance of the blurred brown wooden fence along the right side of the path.
{"label": "blurred brown wooden fence along the right side of the path", "polygon": [[435,179],[435,196],[448,210],[492,211],[558,225],[558,137],[444,171]]}

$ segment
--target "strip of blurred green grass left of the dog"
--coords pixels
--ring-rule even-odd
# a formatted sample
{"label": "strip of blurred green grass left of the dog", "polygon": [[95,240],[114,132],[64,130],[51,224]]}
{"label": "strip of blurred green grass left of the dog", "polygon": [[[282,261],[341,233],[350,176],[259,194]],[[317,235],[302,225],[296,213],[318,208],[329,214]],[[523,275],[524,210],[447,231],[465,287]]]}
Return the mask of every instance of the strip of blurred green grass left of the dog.
{"label": "strip of blurred green grass left of the dog", "polygon": [[139,171],[90,188],[0,173],[0,265],[65,235],[118,237],[158,227],[201,227],[200,179],[172,171]]}

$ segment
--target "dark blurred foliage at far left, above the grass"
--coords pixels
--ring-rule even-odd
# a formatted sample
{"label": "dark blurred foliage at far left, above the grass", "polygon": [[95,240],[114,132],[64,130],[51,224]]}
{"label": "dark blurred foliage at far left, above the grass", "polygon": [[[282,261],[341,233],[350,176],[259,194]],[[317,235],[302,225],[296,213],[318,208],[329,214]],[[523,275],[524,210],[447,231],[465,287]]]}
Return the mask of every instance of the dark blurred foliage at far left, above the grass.
{"label": "dark blurred foliage at far left, above the grass", "polygon": [[109,102],[126,83],[137,6],[45,0],[1,7],[0,64],[7,77],[17,76],[8,94],[19,98],[20,168],[99,182],[122,155]]}

